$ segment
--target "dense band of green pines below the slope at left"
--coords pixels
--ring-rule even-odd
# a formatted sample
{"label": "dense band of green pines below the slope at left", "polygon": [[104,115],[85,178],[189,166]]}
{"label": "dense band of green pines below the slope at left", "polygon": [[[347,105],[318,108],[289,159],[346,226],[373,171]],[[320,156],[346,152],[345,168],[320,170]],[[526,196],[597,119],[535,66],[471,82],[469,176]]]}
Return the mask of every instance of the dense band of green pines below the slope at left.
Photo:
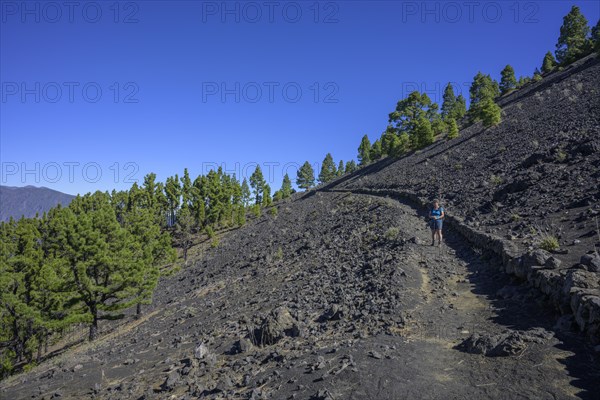
{"label": "dense band of green pines below the slope at left", "polygon": [[156,174],[128,191],[77,196],[40,218],[0,223],[0,376],[34,363],[70,327],[149,304],[161,268],[184,260],[195,234],[242,226],[248,213],[292,195],[287,175],[271,195],[260,166],[241,183],[219,168],[192,181],[157,182]]}

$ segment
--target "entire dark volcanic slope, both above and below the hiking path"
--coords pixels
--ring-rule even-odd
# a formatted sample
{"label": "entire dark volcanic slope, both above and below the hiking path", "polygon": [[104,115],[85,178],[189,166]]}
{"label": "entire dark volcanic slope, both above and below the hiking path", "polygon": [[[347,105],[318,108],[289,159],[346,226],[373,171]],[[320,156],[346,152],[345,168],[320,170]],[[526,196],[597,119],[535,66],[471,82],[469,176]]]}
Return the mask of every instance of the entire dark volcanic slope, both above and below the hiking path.
{"label": "entire dark volcanic slope, both above and below the hiking path", "polygon": [[[600,275],[579,261],[599,244],[600,63],[500,104],[496,127],[278,203],[0,396],[598,398]],[[527,254],[544,234],[560,248]]]}

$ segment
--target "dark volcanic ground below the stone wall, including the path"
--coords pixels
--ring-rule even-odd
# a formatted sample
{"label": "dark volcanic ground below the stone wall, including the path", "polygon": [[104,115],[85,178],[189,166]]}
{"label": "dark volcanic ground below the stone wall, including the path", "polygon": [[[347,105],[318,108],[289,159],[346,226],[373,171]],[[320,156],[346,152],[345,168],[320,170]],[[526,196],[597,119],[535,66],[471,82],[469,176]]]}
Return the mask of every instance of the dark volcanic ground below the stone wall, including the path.
{"label": "dark volcanic ground below the stone wall, including the path", "polygon": [[598,356],[408,205],[309,192],[163,279],[97,342],[0,382],[2,399],[598,398]]}

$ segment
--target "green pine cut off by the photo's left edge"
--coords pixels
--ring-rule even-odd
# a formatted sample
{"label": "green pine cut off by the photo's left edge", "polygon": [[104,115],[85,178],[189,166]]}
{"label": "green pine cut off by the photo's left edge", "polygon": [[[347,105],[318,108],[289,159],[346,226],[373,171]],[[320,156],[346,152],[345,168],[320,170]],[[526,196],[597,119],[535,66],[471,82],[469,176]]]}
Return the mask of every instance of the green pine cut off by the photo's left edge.
{"label": "green pine cut off by the photo's left edge", "polygon": [[60,317],[68,292],[59,289],[60,265],[53,257],[45,257],[41,224],[26,218],[2,224],[0,336],[10,349],[0,367],[2,373],[15,361],[33,361],[35,354],[39,361],[52,330],[69,322]]}

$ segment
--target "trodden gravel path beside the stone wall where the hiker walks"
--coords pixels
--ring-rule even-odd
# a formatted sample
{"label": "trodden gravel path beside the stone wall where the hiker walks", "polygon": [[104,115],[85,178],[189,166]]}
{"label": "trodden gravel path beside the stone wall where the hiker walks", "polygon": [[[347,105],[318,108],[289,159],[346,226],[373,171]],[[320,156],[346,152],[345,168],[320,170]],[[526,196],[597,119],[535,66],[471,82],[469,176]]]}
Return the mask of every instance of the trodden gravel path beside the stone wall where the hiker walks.
{"label": "trodden gravel path beside the stone wall where the hiker walks", "polygon": [[[384,197],[364,190],[328,191]],[[384,377],[378,373],[376,381],[367,375],[354,382],[351,398],[600,398],[600,374],[586,356],[589,349],[577,333],[554,330],[558,316],[545,305],[543,295],[511,281],[498,269],[498,260],[473,249],[447,227],[442,247],[430,246],[423,215],[409,204],[396,205],[406,216],[400,230],[413,232],[416,238],[398,256],[419,266],[421,301],[407,311],[400,340],[378,337],[361,344],[363,351],[389,346],[391,357],[382,360],[389,373]],[[554,336],[546,343],[528,343],[510,357],[456,349],[471,334],[532,328]]]}

